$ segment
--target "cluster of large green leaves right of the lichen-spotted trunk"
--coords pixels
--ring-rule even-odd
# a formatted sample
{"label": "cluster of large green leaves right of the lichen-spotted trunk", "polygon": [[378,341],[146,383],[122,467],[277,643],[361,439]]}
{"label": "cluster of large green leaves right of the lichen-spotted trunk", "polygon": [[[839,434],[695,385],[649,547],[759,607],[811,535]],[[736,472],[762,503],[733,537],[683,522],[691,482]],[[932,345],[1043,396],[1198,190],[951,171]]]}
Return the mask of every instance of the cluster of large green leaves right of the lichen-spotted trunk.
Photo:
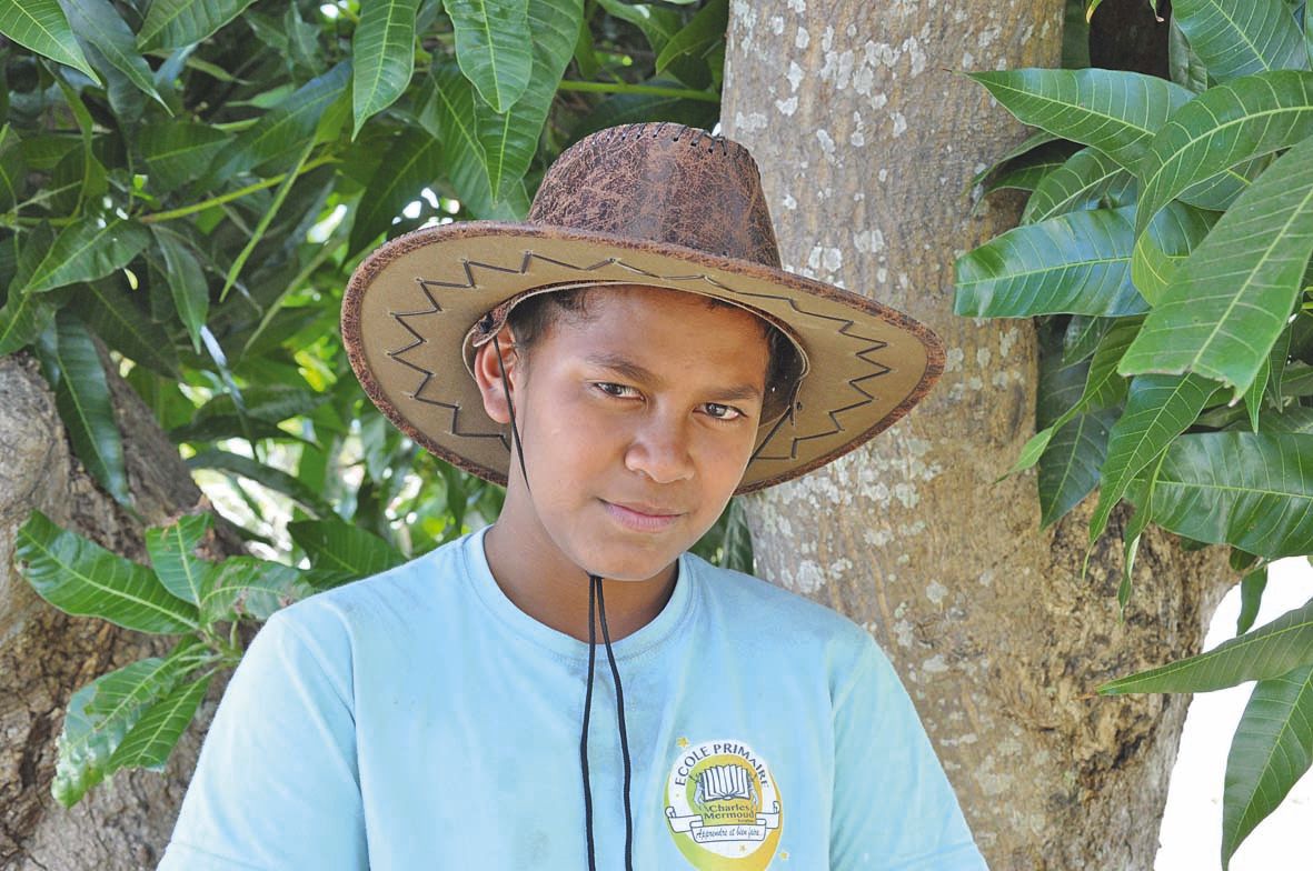
{"label": "cluster of large green leaves right of the lichen-spotted trunk", "polygon": [[[1098,5],[1070,0],[1069,28]],[[1246,573],[1239,638],[1100,690],[1258,681],[1226,866],[1313,756],[1313,603],[1246,632],[1267,563],[1313,554],[1313,21],[1288,0],[1171,7],[1171,80],[1088,68],[1071,31],[1077,68],[969,73],[1040,132],[978,180],[1029,173],[1032,193],[1020,227],[957,261],[956,310],[1040,319],[1041,430],[1012,471],[1039,466],[1045,525],[1099,488],[1091,547],[1134,508],[1123,607],[1149,522]]]}

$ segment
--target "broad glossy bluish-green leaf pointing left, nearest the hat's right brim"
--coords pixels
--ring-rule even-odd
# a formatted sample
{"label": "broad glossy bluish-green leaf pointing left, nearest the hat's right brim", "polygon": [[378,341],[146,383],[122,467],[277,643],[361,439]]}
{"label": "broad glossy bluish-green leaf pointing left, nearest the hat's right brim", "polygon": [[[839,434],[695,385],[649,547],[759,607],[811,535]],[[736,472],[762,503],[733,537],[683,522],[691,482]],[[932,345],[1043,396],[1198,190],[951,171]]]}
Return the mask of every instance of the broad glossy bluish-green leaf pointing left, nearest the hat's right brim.
{"label": "broad glossy bluish-green leaf pointing left, nearest the hat's right brim", "polygon": [[1133,209],[1058,215],[968,252],[956,264],[953,311],[974,317],[1146,311],[1130,283]]}

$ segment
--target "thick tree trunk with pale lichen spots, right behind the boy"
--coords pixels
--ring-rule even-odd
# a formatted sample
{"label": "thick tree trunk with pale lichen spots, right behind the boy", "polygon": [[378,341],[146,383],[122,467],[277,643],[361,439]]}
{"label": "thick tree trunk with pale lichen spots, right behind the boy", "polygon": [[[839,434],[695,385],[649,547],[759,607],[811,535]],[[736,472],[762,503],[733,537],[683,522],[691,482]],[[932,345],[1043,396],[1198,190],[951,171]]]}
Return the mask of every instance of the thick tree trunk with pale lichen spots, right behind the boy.
{"label": "thick tree trunk with pale lichen spots, right behind the boy", "polygon": [[1024,130],[952,71],[1057,66],[1061,21],[1061,0],[734,0],[722,105],[785,268],[948,348],[910,417],[748,512],[759,573],[888,651],[997,871],[1153,866],[1187,699],[1092,694],[1197,652],[1232,582],[1220,554],[1146,535],[1123,622],[1123,516],[1082,581],[1091,505],[1041,530],[1033,474],[994,483],[1033,432],[1035,332],[956,317],[953,260],[1015,222],[969,180]]}

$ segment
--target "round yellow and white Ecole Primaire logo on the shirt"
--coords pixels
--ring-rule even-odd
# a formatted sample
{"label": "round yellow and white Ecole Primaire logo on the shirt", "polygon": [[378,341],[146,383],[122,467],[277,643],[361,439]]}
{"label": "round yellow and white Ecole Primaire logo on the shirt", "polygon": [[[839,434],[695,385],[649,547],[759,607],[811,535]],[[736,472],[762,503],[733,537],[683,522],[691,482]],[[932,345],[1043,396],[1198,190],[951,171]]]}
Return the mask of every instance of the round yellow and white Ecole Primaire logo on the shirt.
{"label": "round yellow and white Ecole Primaire logo on the shirt", "polygon": [[780,790],[743,741],[678,741],[666,780],[666,820],[699,871],[762,871],[780,842]]}

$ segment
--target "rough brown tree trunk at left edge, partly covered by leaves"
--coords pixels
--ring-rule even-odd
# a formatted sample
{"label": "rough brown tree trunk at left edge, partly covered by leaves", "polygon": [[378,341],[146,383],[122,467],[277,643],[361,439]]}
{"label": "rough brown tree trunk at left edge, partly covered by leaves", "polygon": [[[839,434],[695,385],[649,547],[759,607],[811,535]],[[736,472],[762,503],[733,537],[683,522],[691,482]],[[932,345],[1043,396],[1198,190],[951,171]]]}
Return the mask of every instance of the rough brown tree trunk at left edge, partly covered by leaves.
{"label": "rough brown tree trunk at left edge, partly covered by leaves", "polygon": [[[147,523],[193,506],[200,491],[150,411],[112,378],[135,508]],[[0,357],[0,868],[154,868],[223,694],[217,678],[164,774],[131,771],[64,809],[50,795],[56,739],[72,693],[172,639],[55,610],[13,567],[14,537],[32,509],[100,544],[142,559],[142,526],[71,458],[55,401],[24,357]],[[231,547],[231,543],[228,544]]]}

